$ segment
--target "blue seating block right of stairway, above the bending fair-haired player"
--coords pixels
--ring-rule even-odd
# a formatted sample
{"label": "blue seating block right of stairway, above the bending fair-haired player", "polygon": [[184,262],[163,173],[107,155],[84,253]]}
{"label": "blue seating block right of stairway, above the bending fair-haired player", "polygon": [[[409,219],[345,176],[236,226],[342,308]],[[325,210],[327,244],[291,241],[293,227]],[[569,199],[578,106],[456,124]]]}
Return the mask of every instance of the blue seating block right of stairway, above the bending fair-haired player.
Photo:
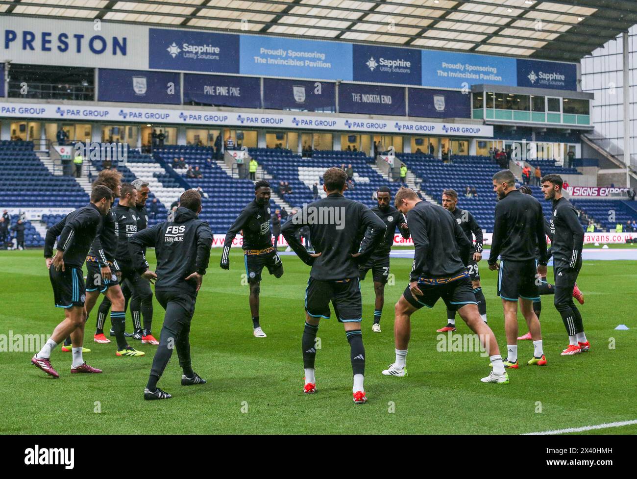
{"label": "blue seating block right of stairway, above the bending fair-haired player", "polygon": [[[438,203],[442,203],[442,192],[451,188],[458,193],[458,207],[471,211],[483,231],[492,232],[496,194],[493,191],[492,176],[499,166],[489,157],[467,155],[454,156],[452,163],[443,163],[433,155],[397,155],[423,184],[421,189]],[[474,187],[477,197],[465,197],[466,187]]]}

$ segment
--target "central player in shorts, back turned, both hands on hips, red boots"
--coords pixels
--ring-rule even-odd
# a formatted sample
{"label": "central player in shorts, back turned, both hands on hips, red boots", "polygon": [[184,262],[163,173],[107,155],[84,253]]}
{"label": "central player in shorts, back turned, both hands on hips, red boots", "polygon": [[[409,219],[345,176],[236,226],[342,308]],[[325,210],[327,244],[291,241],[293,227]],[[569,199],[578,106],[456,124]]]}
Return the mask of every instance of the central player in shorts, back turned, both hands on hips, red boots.
{"label": "central player in shorts, back turned, both hands on hips, red boots", "polygon": [[[350,343],[350,361],[354,371],[354,403],[367,401],[364,388],[365,349],[362,345],[361,283],[359,268],[368,261],[383,240],[385,223],[367,206],[343,196],[347,188],[347,174],[340,168],[330,168],[323,175],[323,189],[327,197],[310,203],[283,225],[283,238],[305,264],[311,266],[305,290],[305,327],[301,346],[305,385],[303,392],[316,392],[314,361],[315,340],[320,318],[330,317],[329,303],[334,315],[343,323]],[[309,253],[296,237],[303,228],[310,229],[314,253]],[[361,250],[361,240],[368,241]]]}

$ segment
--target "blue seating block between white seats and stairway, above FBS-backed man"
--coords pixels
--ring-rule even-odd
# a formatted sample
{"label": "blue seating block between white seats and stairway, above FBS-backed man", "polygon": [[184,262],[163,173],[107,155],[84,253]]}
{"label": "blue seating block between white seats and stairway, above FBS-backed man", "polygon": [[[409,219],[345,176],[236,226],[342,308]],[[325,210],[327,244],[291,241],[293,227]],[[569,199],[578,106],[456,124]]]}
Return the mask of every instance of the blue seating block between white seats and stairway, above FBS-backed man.
{"label": "blue seating block between white seats and stairway, above FBS-backed man", "polygon": [[[190,188],[201,187],[204,196],[201,198],[199,217],[210,224],[213,233],[223,234],[233,224],[243,207],[254,199],[254,182],[232,178],[215,162],[206,162],[206,159],[213,158],[212,151],[212,148],[208,147],[169,147],[155,152],[155,156],[168,165],[172,163],[173,158],[183,157],[187,166],[192,166],[193,169],[199,166],[203,178],[186,178],[186,170],[183,168],[174,171]],[[270,201],[273,213],[276,208],[279,206]]]}

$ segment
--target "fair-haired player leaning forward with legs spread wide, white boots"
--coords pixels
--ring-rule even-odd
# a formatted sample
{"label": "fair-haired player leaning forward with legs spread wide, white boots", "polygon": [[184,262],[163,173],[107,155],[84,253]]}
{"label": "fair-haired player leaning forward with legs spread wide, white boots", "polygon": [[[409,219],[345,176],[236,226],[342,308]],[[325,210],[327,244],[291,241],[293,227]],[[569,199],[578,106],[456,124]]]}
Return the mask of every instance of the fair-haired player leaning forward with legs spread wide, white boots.
{"label": "fair-haired player leaning forward with legs spread wide, white boots", "polygon": [[407,375],[410,318],[422,306],[433,308],[438,299],[442,298],[447,308],[458,311],[471,331],[478,334],[480,345],[489,354],[493,370],[481,381],[508,383],[509,378],[497,347],[496,336],[480,317],[469,273],[461,259],[468,257],[473,244],[449,211],[437,204],[422,201],[414,190],[404,187],[399,189],[395,204],[407,217],[415,251],[409,284],[395,308],[396,360],[383,371],[383,375]]}

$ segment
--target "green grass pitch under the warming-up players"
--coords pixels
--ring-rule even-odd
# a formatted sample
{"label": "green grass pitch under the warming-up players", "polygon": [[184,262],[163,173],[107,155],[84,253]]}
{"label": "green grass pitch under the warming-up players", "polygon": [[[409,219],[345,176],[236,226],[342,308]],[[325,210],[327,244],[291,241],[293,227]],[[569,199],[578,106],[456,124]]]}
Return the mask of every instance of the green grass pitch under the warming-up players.
{"label": "green grass pitch under the warming-up players", "polygon": [[[174,354],[159,382],[173,399],[143,401],[155,347],[131,340],[147,355],[116,357],[114,342],[92,342],[96,318],[92,313],[85,341],[92,352],[84,358],[103,369],[101,375],[71,375],[70,353],[60,347],[52,355],[59,380],[31,365],[33,352],[0,352],[0,433],[517,434],[637,418],[637,262],[584,263],[578,284],[586,299],[581,311],[591,352],[559,355],[567,345],[564,326],[552,296],[544,296],[541,324],[548,366],[526,366],[533,345],[520,341],[520,369],[510,371],[510,384],[492,385],[480,383],[489,373],[488,358],[476,352],[437,350],[435,330],[446,324],[442,302],[412,317],[409,376],[380,374],[394,361],[393,306],[412,266],[410,259],[392,259],[396,281],[385,290],[380,334],[371,332],[371,278],[362,282],[369,402],[357,406],[352,402],[349,345],[335,319],[322,320],[318,331],[318,392],[302,394],[301,333],[309,268],[294,256],[283,256],[285,274],[280,280],[266,272],[261,283],[261,324],[268,338],[257,339],[252,336],[242,255],[234,250],[231,269],[224,271],[218,268],[219,254],[213,250],[190,334],[194,369],[208,380],[206,385],[182,387]],[[485,261],[480,266],[489,324],[504,349],[496,273],[486,268]],[[13,336],[50,334],[63,317],[53,307],[41,250],[0,252],[0,298],[4,345],[10,331]],[[157,337],[163,315],[155,301]],[[457,324],[457,333],[469,332],[460,318]],[[631,329],[614,331],[618,324]],[[524,332],[526,325],[520,325],[520,334]],[[593,433],[636,431],[633,425]]]}

